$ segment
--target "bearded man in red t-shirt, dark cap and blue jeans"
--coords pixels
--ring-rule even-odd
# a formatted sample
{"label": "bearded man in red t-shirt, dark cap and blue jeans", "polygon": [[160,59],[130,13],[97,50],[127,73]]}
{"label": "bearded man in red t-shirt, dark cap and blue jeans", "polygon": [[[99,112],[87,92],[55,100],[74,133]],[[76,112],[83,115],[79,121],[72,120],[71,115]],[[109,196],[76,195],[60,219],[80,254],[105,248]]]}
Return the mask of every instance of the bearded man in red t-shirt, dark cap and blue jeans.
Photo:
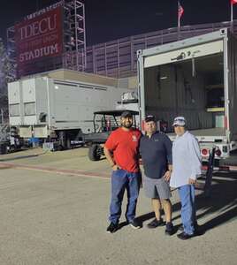
{"label": "bearded man in red t-shirt, dark cap and blue jeans", "polygon": [[119,217],[125,190],[127,191],[126,221],[134,229],[141,228],[135,218],[136,203],[141,184],[139,169],[139,141],[141,132],[132,127],[130,111],[121,114],[121,127],[111,133],[104,145],[104,155],[111,164],[110,225],[107,232],[119,228]]}

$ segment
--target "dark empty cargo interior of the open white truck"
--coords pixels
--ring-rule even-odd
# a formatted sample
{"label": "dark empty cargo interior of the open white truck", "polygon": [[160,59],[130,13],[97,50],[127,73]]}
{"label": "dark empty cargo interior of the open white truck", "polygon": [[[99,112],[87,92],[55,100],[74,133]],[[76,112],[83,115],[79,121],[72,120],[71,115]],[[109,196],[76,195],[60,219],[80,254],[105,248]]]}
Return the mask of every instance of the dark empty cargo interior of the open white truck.
{"label": "dark empty cargo interior of the open white truck", "polygon": [[168,133],[173,117],[184,116],[188,130],[225,135],[223,62],[218,53],[146,68],[146,113],[166,121]]}

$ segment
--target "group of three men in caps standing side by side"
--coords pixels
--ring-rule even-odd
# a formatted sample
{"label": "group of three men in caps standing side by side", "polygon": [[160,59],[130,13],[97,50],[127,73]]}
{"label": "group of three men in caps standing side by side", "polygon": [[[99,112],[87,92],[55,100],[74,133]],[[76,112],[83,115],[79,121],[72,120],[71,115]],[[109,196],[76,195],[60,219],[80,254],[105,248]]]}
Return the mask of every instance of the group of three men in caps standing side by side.
{"label": "group of three men in caps standing side by side", "polygon": [[[139,151],[144,166],[144,190],[151,199],[155,219],[149,228],[163,225],[161,208],[164,208],[165,233],[173,234],[170,186],[179,190],[181,219],[184,231],[179,239],[190,239],[195,235],[195,181],[201,174],[201,155],[195,136],[186,130],[186,119],[176,117],[173,122],[177,135],[173,145],[164,134],[157,132],[156,118],[145,118],[145,135],[132,128],[133,116],[129,111],[121,115],[121,127],[112,132],[104,146],[104,155],[111,164],[111,207],[108,232],[119,228],[121,205],[127,191],[126,221],[134,229],[141,228],[135,220],[135,209],[141,185]],[[169,185],[170,181],[170,185]]]}

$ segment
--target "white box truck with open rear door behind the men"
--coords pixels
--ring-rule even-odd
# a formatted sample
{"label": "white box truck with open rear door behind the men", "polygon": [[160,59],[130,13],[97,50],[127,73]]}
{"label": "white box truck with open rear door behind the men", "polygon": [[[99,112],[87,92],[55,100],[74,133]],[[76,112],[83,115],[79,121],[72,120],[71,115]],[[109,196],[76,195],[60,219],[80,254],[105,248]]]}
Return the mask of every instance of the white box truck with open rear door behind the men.
{"label": "white box truck with open rear door behind the men", "polygon": [[187,118],[203,157],[216,147],[226,158],[237,148],[237,41],[226,28],[150,49],[138,50],[141,122],[156,115],[168,123]]}

